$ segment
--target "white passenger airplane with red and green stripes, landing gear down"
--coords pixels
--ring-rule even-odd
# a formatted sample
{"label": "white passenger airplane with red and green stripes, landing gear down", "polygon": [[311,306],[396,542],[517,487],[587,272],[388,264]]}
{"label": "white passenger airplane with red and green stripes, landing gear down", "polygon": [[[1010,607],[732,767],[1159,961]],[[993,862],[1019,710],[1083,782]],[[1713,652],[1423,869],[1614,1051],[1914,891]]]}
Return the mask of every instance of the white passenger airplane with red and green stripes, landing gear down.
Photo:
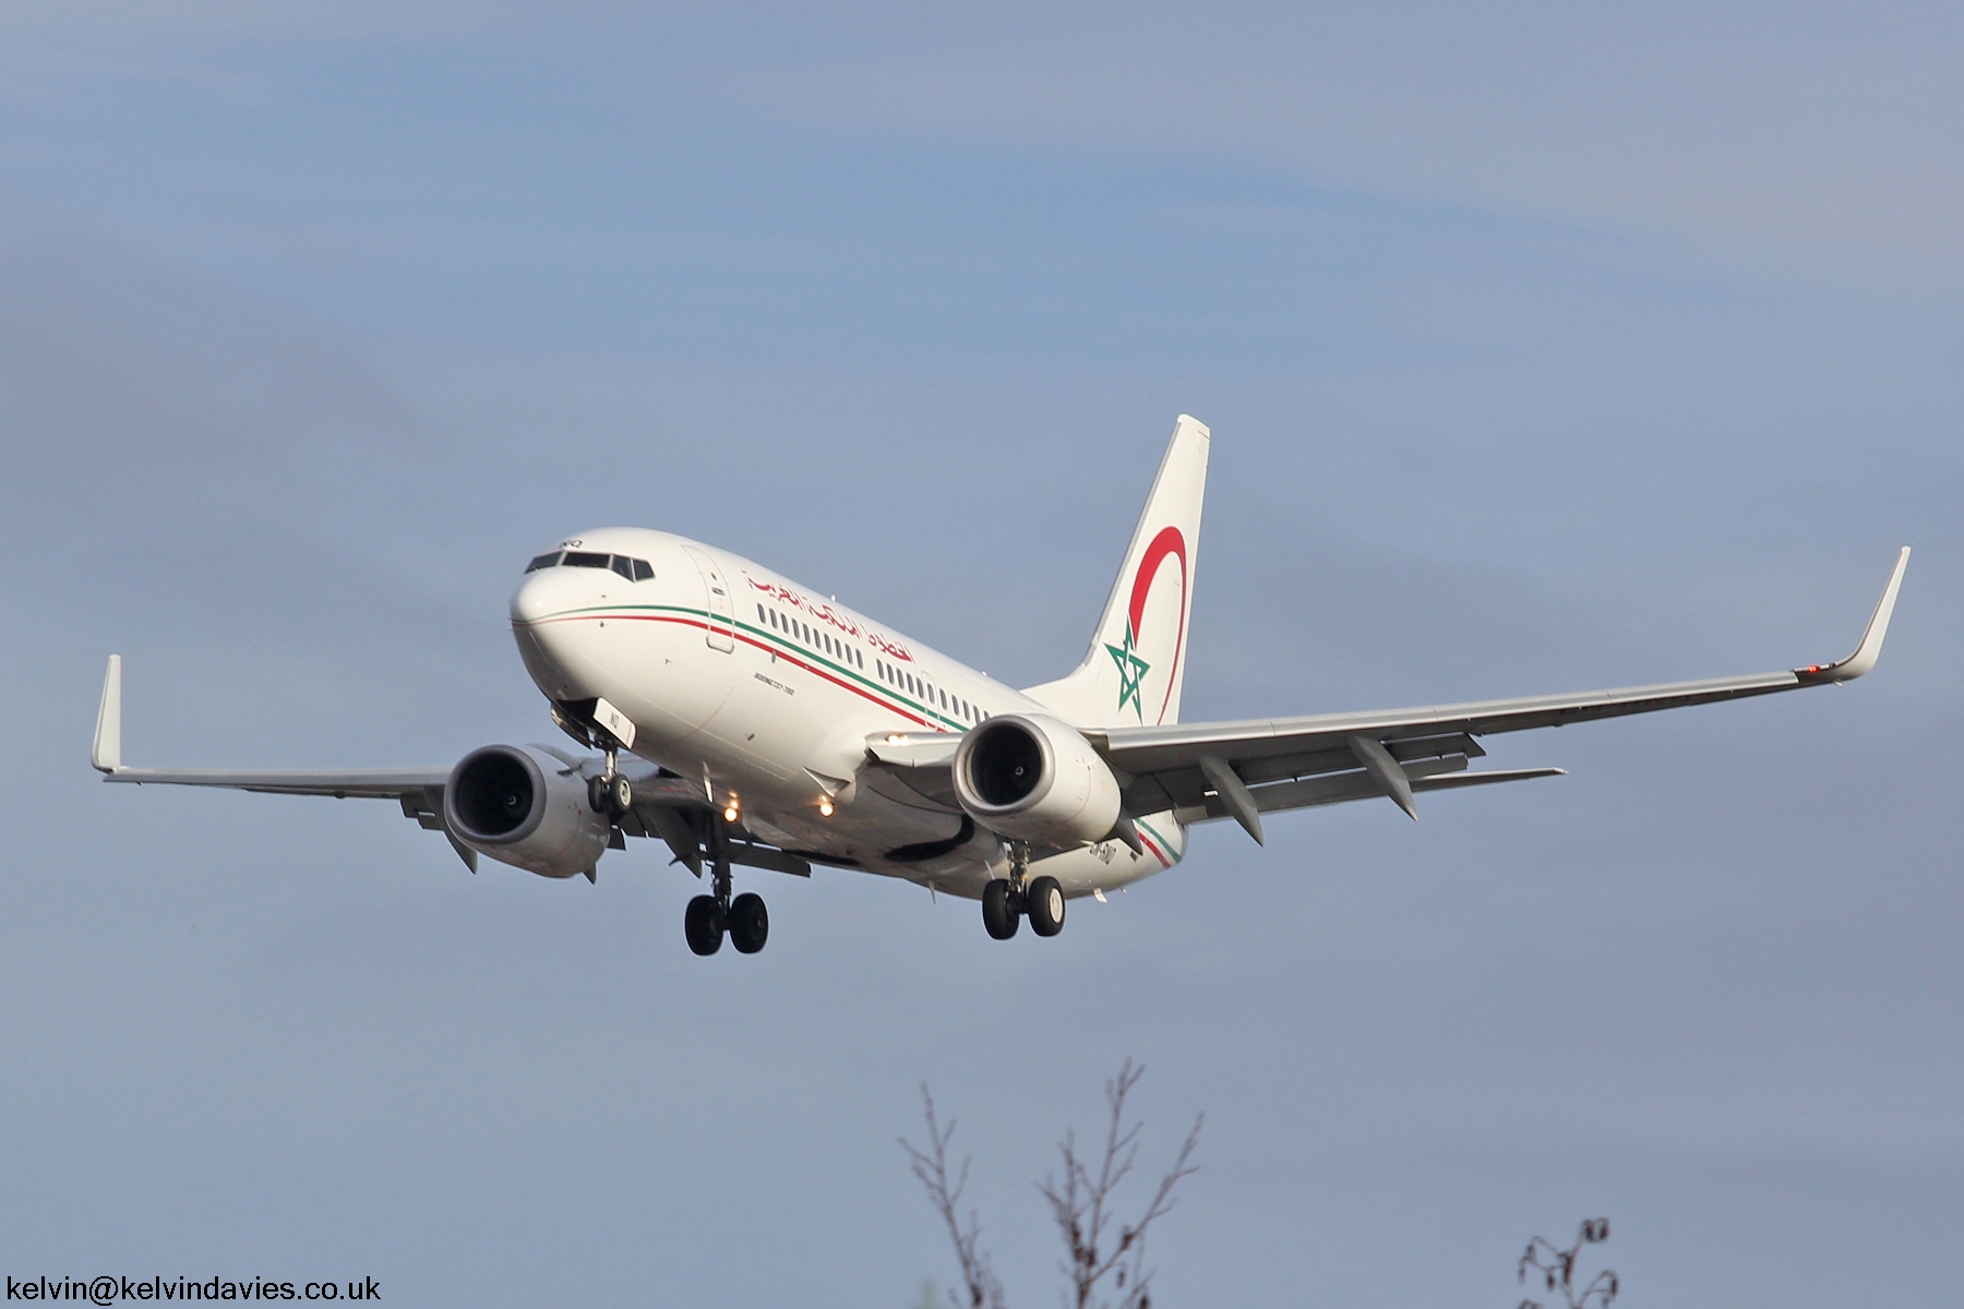
{"label": "white passenger airplane with red and green stripes, landing gear down", "polygon": [[764,899],[733,871],[831,865],[982,903],[996,940],[1057,936],[1068,901],[1178,864],[1188,830],[1418,797],[1559,767],[1473,769],[1481,738],[1868,673],[1905,546],[1854,654],[1748,677],[1245,722],[1180,722],[1212,434],[1180,416],[1090,650],[1021,691],[760,563],[670,532],[603,528],[536,555],[511,597],[518,655],[579,750],[493,744],[450,767],[126,767],[110,655],[90,761],[112,783],[389,799],[479,858],[597,881],[607,850],[654,838],[705,893],[695,954],[756,954]]}

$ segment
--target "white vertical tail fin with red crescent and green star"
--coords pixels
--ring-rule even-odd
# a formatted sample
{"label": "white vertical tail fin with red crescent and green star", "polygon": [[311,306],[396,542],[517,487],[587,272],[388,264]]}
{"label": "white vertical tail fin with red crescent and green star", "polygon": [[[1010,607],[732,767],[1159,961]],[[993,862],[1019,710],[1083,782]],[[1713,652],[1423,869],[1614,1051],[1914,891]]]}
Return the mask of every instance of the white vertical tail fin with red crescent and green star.
{"label": "white vertical tail fin with red crescent and green star", "polygon": [[1025,695],[1086,728],[1180,720],[1186,622],[1208,487],[1204,424],[1180,414],[1084,661]]}

